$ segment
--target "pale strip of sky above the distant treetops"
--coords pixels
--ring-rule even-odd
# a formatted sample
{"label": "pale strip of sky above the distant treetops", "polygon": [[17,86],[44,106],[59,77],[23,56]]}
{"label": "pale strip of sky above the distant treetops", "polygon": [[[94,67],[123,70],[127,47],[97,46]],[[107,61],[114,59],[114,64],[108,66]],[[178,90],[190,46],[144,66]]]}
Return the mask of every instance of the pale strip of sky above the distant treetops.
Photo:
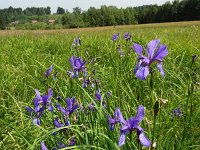
{"label": "pale strip of sky above the distant treetops", "polygon": [[55,13],[58,6],[72,12],[75,7],[80,7],[82,10],[87,10],[90,6],[100,8],[101,5],[126,8],[149,4],[161,5],[166,1],[172,2],[173,0],[0,0],[0,9],[8,8],[9,6],[23,9],[26,7],[50,6],[51,11]]}

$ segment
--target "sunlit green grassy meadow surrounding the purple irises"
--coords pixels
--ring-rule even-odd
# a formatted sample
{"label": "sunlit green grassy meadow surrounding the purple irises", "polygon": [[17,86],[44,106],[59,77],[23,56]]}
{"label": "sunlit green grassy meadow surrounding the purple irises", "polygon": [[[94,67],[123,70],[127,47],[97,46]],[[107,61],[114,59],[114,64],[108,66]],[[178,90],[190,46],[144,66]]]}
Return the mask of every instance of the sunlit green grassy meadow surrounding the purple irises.
{"label": "sunlit green grassy meadow surrounding the purple irises", "polygon": [[[126,32],[131,34],[131,42],[124,39]],[[119,38],[113,42],[111,38],[116,33]],[[73,47],[77,37],[81,38],[81,45]],[[153,39],[160,39],[169,51],[163,62],[165,76],[163,78],[153,65],[153,76],[139,80],[133,72],[137,64],[133,43],[146,50]],[[123,57],[117,50],[119,44]],[[65,149],[143,149],[134,131],[126,136],[126,144],[118,147],[120,124],[110,131],[106,115],[113,117],[118,107],[123,117],[129,119],[136,115],[139,105],[145,107],[140,126],[152,142],[146,149],[200,149],[200,62],[199,58],[192,61],[194,54],[200,56],[198,21],[115,28],[0,31],[0,149],[41,149],[42,141],[52,149],[58,147],[60,141],[70,145],[72,137],[75,145]],[[75,79],[68,76],[71,56],[86,61],[87,76],[96,84],[94,88],[82,87],[83,73]],[[46,78],[45,71],[52,64],[52,74],[57,74],[55,78],[51,75]],[[26,106],[34,107],[35,89],[45,94],[50,87],[54,111],[46,110],[40,118],[41,125],[34,125]],[[95,100],[99,89],[100,103]],[[79,105],[68,118],[71,124],[61,128],[54,127],[56,117],[64,124],[63,115],[56,108],[57,96],[61,96],[59,104],[63,107],[66,107],[65,99],[73,96]],[[88,108],[91,103],[95,103],[94,110]],[[173,113],[178,108],[180,115]],[[54,132],[57,135],[53,135]]]}

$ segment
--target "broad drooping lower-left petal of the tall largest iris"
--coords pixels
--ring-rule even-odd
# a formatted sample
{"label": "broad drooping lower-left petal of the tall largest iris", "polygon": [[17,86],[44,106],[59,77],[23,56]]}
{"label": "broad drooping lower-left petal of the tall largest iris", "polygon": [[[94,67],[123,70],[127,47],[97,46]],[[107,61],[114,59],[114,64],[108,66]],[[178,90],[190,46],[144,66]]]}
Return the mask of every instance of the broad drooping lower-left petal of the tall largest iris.
{"label": "broad drooping lower-left petal of the tall largest iris", "polygon": [[135,74],[140,80],[145,80],[149,74],[149,66],[138,66]]}

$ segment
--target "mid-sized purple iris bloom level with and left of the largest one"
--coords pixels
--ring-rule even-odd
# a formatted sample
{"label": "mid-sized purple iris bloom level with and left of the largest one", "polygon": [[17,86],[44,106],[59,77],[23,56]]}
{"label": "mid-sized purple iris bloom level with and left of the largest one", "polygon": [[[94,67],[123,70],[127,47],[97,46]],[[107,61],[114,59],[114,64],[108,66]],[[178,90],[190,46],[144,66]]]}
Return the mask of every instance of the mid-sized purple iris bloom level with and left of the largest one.
{"label": "mid-sized purple iris bloom level with and left of the largest one", "polygon": [[72,68],[74,69],[76,75],[78,74],[78,72],[84,71],[86,68],[84,66],[86,61],[83,61],[81,57],[76,58],[75,56],[72,56],[69,59],[69,61],[71,63]]}

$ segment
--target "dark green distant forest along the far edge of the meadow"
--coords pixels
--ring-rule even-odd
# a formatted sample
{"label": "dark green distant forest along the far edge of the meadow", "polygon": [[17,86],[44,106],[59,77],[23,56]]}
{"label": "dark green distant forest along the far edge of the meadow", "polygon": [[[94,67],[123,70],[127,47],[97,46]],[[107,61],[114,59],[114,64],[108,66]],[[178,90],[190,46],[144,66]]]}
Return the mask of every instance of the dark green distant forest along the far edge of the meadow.
{"label": "dark green distant forest along the far edge of the meadow", "polygon": [[101,6],[72,12],[62,7],[0,9],[0,29],[59,29],[200,20],[200,0],[175,0],[158,5],[117,8]]}

